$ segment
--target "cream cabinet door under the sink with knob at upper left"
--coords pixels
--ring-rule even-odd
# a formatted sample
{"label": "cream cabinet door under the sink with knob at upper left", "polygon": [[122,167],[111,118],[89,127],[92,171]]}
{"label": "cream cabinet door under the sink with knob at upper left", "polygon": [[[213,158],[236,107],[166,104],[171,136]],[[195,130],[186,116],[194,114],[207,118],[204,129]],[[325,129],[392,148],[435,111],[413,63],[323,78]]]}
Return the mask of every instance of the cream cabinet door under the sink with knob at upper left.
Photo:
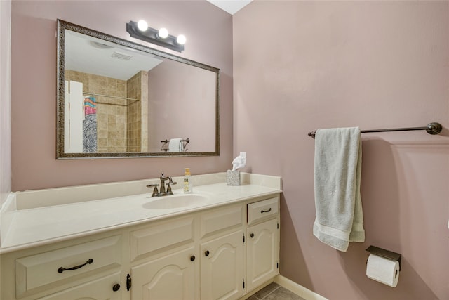
{"label": "cream cabinet door under the sink with knob at upper left", "polygon": [[201,299],[239,299],[243,255],[241,230],[201,244]]}

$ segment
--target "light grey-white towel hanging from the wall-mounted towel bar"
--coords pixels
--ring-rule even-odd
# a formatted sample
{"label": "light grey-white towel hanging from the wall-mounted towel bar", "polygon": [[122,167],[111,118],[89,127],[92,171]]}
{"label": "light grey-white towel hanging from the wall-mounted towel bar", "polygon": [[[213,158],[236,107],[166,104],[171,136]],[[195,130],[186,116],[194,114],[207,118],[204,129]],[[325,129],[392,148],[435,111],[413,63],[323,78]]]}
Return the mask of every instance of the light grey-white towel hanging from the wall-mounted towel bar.
{"label": "light grey-white towel hanging from the wall-mounted towel bar", "polygon": [[349,242],[365,241],[361,148],[358,127],[316,131],[314,235],[342,252]]}

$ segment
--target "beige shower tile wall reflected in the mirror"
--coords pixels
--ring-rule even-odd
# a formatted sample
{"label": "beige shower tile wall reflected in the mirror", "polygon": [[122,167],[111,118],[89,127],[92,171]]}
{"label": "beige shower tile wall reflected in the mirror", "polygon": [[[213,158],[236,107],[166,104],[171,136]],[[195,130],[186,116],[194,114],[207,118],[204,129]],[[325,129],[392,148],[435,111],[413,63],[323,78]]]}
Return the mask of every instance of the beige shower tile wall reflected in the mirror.
{"label": "beige shower tile wall reflected in the mirror", "polygon": [[[128,81],[76,71],[65,71],[66,80],[79,81],[83,92],[135,98],[138,101],[95,96],[98,152],[146,152],[148,149],[148,74],[138,72]],[[142,96],[144,95],[144,96]]]}

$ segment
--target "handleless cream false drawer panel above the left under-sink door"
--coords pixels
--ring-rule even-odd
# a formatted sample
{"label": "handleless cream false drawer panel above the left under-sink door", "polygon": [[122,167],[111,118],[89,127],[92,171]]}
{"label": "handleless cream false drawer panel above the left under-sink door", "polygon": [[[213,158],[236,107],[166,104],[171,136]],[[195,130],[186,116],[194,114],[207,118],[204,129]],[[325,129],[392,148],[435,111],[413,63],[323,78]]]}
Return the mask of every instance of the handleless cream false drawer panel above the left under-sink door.
{"label": "handleless cream false drawer panel above the left under-sink door", "polygon": [[165,249],[194,242],[194,217],[154,224],[130,233],[130,259],[135,261]]}

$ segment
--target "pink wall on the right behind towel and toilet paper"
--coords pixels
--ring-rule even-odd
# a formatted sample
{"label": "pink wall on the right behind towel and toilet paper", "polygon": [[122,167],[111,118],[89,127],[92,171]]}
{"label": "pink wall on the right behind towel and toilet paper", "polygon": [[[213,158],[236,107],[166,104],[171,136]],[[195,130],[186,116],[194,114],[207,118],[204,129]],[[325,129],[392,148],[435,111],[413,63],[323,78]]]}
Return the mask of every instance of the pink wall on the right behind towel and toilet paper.
{"label": "pink wall on the right behind towel and toilet paper", "polygon": [[[281,275],[332,300],[449,299],[449,2],[254,1],[233,18],[234,154],[283,178]],[[312,234],[318,128],[363,133],[366,242]],[[366,278],[365,249],[403,254],[396,288]]]}

